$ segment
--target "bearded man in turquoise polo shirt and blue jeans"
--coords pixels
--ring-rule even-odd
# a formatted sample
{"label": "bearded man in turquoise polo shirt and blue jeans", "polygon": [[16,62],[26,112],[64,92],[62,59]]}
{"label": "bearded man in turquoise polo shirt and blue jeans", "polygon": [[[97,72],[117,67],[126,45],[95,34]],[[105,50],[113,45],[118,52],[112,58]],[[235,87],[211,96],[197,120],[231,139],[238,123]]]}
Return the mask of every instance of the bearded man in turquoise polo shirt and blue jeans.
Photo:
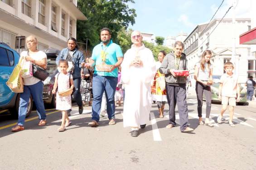
{"label": "bearded man in turquoise polo shirt and blue jeans", "polygon": [[[100,120],[101,100],[103,92],[106,94],[106,110],[109,124],[115,121],[115,92],[117,85],[118,67],[123,61],[121,47],[111,40],[111,32],[108,28],[101,29],[101,43],[93,48],[92,58],[85,65],[86,68],[95,66],[92,78],[92,122],[90,126],[98,126]],[[110,70],[102,71],[103,65],[108,65]]]}

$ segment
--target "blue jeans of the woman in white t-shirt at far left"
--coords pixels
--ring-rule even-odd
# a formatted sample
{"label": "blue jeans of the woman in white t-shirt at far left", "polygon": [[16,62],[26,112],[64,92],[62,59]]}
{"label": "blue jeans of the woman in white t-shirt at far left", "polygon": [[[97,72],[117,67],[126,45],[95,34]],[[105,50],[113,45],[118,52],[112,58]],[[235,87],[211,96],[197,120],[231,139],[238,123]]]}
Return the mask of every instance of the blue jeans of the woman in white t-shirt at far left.
{"label": "blue jeans of the woman in white t-shirt at far left", "polygon": [[[32,95],[33,101],[36,106],[36,111],[39,116],[39,120],[45,120],[46,114],[43,105],[43,82],[40,81],[33,85],[24,85],[24,92],[20,93],[19,99],[19,119],[18,125],[23,126],[27,114],[29,97]],[[33,102],[31,101],[31,102]]]}

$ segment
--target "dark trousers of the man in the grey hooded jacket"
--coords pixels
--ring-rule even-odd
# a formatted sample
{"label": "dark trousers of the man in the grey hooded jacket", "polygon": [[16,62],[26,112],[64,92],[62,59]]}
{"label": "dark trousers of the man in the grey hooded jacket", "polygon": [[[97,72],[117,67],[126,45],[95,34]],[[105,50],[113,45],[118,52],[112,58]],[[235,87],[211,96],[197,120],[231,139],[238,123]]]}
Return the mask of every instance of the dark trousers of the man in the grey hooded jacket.
{"label": "dark trousers of the man in the grey hooded jacket", "polygon": [[167,101],[169,104],[169,124],[175,123],[175,106],[178,104],[180,130],[184,131],[188,127],[188,105],[186,101],[186,84],[179,86],[167,85]]}

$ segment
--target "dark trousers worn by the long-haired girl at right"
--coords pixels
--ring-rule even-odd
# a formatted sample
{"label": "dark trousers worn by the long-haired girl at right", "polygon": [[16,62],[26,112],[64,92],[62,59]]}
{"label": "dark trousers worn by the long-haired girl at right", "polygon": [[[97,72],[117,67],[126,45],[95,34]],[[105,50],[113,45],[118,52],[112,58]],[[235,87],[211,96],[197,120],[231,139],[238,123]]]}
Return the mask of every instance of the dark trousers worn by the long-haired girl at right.
{"label": "dark trousers worn by the long-haired girl at right", "polygon": [[198,117],[202,117],[203,93],[206,99],[206,118],[210,117],[212,106],[212,93],[210,86],[204,86],[202,83],[196,83],[196,93],[198,98]]}

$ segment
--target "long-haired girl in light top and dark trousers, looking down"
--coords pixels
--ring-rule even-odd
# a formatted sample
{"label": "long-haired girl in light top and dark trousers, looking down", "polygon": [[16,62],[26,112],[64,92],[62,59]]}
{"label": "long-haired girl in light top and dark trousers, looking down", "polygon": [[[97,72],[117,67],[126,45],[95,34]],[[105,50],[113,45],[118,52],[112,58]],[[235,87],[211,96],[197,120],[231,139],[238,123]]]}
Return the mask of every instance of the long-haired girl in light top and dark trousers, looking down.
{"label": "long-haired girl in light top and dark trousers, looking down", "polygon": [[206,118],[205,124],[213,127],[210,122],[210,112],[212,104],[212,93],[210,85],[213,84],[213,66],[210,62],[212,52],[210,50],[203,51],[200,62],[195,65],[194,79],[196,82],[196,93],[198,99],[198,124],[203,125],[202,106],[203,106],[203,93],[206,98]]}

